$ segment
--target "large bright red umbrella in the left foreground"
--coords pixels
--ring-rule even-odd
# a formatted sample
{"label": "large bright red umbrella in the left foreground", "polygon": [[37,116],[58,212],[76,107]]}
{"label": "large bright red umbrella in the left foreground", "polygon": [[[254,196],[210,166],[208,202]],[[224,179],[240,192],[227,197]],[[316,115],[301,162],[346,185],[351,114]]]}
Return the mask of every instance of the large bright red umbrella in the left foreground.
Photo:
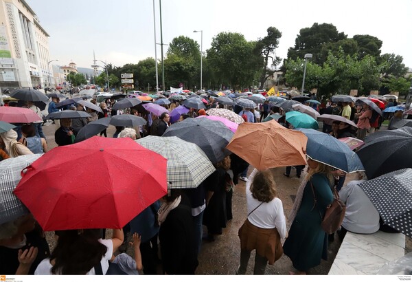
{"label": "large bright red umbrella in the left foreground", "polygon": [[95,136],[45,153],[14,193],[46,231],[122,228],[167,193],[166,162],[130,138]]}

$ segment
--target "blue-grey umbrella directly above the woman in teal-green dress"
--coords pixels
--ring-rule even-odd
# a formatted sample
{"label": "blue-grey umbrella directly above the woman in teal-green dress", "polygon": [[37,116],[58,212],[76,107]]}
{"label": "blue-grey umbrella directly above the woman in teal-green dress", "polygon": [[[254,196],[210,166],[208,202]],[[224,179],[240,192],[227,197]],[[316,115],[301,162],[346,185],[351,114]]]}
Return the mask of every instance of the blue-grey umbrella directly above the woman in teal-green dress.
{"label": "blue-grey umbrella directly above the woman in teal-green dress", "polygon": [[358,155],[343,142],[314,129],[297,130],[302,131],[308,137],[306,155],[312,160],[328,164],[345,173],[365,171]]}

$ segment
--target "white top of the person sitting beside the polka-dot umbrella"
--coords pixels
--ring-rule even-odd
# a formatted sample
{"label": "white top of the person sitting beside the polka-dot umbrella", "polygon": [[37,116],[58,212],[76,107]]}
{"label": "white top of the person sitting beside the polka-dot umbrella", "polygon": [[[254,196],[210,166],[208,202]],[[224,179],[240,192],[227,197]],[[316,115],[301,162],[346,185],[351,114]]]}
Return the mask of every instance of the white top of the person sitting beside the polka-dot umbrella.
{"label": "white top of the person sitting beside the polka-dot umbrella", "polygon": [[342,226],[354,233],[371,234],[379,230],[379,213],[358,184],[365,180],[354,180],[339,191],[346,204]]}

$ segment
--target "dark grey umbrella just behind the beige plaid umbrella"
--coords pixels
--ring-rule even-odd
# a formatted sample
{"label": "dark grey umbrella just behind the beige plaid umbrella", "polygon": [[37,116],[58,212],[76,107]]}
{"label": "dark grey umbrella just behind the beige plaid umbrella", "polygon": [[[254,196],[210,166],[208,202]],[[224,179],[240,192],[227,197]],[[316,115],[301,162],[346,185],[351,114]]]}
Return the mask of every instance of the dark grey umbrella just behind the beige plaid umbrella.
{"label": "dark grey umbrella just behind the beige plaid umbrella", "polygon": [[230,154],[225,148],[233,137],[233,132],[225,124],[216,120],[187,118],[172,124],[163,136],[176,136],[198,145],[207,158],[216,164]]}

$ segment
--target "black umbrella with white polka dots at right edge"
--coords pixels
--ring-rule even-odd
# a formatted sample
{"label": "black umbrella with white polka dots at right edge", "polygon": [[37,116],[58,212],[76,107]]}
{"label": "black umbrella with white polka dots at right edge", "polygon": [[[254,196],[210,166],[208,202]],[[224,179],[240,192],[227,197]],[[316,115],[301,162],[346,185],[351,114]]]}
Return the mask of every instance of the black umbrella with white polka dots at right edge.
{"label": "black umbrella with white polka dots at right edge", "polygon": [[412,238],[412,169],[392,171],[358,185],[385,224]]}

